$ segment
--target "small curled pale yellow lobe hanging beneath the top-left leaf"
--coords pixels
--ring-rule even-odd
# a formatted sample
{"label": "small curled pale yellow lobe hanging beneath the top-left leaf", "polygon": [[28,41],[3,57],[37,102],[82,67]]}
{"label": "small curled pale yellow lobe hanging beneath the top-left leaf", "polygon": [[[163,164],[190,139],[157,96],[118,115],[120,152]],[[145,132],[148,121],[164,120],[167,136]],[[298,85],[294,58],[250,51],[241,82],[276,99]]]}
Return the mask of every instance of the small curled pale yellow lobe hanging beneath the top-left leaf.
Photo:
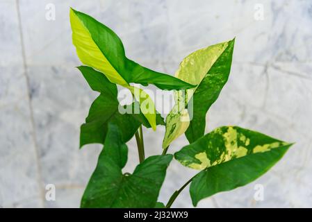
{"label": "small curled pale yellow lobe hanging beneath the top-left leaf", "polygon": [[134,87],[132,85],[127,86],[127,88],[131,91],[134,98],[140,102],[140,110],[142,114],[146,117],[147,121],[151,125],[153,130],[156,130],[156,108],[154,105],[154,101],[149,97],[143,89],[138,87]]}

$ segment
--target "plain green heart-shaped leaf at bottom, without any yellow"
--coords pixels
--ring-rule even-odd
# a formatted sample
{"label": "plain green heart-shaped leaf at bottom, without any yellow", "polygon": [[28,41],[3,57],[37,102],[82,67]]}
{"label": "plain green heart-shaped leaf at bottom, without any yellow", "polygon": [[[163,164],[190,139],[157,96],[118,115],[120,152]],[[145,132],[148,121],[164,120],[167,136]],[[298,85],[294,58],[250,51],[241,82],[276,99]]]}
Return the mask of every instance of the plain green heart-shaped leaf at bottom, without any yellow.
{"label": "plain green heart-shaped leaf at bottom, without any yellow", "polygon": [[156,155],[122,174],[127,147],[117,126],[109,124],[104,149],[81,200],[81,207],[155,207],[172,155]]}

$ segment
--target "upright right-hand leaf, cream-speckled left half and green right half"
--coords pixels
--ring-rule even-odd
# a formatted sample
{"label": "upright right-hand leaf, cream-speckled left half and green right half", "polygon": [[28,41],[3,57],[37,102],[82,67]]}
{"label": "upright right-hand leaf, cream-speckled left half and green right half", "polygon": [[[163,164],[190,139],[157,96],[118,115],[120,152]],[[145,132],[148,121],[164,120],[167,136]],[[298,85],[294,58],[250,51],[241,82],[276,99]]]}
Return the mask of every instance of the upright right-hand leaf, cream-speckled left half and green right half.
{"label": "upright right-hand leaf, cream-speckled left half and green right half", "polygon": [[[208,46],[191,53],[181,62],[176,77],[197,87],[176,93],[176,105],[166,118],[163,148],[183,133],[190,143],[204,135],[206,112],[229,77],[233,45],[234,40]],[[190,117],[186,108],[192,112]],[[191,119],[190,123],[188,119]]]}

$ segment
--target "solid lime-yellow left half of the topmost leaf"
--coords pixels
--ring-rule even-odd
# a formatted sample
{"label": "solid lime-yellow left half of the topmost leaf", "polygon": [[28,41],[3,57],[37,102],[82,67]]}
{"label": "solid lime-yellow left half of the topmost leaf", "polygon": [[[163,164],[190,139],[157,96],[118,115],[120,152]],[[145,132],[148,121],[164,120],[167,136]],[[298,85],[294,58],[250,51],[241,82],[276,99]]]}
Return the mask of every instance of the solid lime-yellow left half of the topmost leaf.
{"label": "solid lime-yellow left half of the topmost leaf", "polygon": [[92,40],[92,35],[85,28],[83,22],[70,10],[70,24],[72,26],[72,41],[76,46],[76,52],[83,64],[93,67],[103,73],[111,83],[127,86],[126,80],[116,71],[99,46]]}

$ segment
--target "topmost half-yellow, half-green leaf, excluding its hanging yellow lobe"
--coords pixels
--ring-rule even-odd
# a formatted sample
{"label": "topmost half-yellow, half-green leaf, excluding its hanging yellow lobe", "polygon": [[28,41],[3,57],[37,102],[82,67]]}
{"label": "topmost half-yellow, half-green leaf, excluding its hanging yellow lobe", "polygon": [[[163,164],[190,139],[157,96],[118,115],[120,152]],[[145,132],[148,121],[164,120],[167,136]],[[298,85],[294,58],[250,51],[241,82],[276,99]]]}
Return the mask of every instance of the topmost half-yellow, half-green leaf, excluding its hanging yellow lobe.
{"label": "topmost half-yellow, half-green leaf, excluding its hanging yellow lobe", "polygon": [[73,44],[83,64],[101,71],[112,83],[154,84],[160,89],[188,89],[189,83],[152,71],[126,58],[120,38],[110,28],[74,9],[69,13]]}

